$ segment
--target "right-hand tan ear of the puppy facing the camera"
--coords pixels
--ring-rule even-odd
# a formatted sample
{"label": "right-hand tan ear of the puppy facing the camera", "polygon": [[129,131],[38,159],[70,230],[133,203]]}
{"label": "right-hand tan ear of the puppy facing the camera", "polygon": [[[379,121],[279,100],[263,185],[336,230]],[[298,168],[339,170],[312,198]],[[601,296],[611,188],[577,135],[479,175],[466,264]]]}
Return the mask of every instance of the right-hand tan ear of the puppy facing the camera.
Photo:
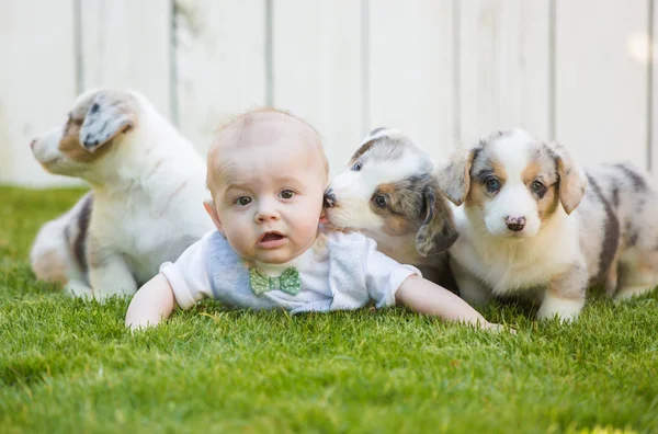
{"label": "right-hand tan ear of the puppy facing the camera", "polygon": [[559,202],[565,213],[571,214],[585,195],[587,175],[564,146],[554,141],[548,147],[554,152],[559,175]]}

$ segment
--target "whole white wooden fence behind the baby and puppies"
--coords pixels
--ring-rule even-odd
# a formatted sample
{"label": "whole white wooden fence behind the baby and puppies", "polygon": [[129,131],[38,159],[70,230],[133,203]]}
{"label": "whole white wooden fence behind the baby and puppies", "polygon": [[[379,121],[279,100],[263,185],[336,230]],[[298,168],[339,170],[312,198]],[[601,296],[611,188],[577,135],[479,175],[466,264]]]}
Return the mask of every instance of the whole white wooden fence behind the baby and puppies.
{"label": "whole white wooden fence behind the baby and puppies", "polygon": [[522,126],[658,169],[655,2],[0,0],[0,182],[66,183],[27,144],[98,85],[140,90],[204,155],[228,114],[274,104],[334,173],[382,125],[438,160]]}

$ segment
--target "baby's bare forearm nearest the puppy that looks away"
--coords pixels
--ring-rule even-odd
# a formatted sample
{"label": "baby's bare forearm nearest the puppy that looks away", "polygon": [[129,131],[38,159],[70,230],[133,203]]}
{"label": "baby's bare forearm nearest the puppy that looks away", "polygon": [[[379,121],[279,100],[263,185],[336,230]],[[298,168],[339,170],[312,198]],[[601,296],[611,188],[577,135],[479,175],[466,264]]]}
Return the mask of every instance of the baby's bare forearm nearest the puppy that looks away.
{"label": "baby's bare forearm nearest the puppy that looks away", "polygon": [[126,327],[139,329],[158,326],[171,315],[174,307],[175,299],[169,281],[162,274],[157,274],[133,297],[126,312]]}

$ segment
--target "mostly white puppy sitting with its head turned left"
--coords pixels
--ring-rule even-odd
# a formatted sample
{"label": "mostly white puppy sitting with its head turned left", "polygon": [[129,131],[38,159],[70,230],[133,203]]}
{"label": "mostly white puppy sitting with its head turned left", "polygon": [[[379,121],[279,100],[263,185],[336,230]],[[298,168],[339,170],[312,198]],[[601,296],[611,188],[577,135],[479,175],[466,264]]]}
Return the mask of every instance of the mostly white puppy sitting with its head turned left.
{"label": "mostly white puppy sitting with its head turned left", "polygon": [[137,92],[83,93],[64,125],[31,147],[47,171],[91,184],[44,225],[31,252],[38,278],[76,296],[134,294],[213,228],[203,159]]}

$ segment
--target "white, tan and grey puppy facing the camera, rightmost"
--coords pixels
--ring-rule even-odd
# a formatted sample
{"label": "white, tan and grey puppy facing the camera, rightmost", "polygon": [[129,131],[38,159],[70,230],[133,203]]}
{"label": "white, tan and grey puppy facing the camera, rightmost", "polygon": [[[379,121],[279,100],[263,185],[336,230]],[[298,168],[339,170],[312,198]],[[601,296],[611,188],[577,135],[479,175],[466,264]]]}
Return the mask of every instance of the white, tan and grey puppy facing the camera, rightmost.
{"label": "white, tan and grey puppy facing the camera, rightmost", "polygon": [[[455,152],[439,185],[457,206],[451,269],[469,302],[537,295],[540,319],[576,318],[588,286],[643,294],[658,283],[658,192],[629,164],[581,169],[521,129]],[[534,297],[533,297],[534,298]],[[535,298],[536,299],[536,298]]]}

